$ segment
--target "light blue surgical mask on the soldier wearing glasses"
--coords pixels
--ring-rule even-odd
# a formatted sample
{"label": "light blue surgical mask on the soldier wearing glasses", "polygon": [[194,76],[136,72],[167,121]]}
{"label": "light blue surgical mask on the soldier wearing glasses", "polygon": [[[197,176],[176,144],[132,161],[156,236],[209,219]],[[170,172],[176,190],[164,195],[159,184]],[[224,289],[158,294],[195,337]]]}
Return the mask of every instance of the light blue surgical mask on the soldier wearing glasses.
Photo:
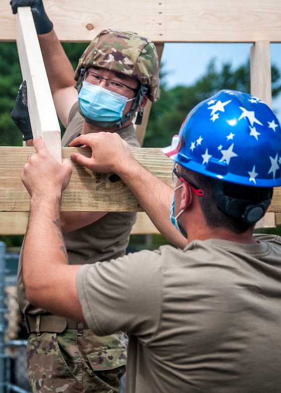
{"label": "light blue surgical mask on the soldier wearing glasses", "polygon": [[78,95],[82,114],[95,121],[116,121],[122,119],[126,103],[130,100],[103,87],[83,82]]}

